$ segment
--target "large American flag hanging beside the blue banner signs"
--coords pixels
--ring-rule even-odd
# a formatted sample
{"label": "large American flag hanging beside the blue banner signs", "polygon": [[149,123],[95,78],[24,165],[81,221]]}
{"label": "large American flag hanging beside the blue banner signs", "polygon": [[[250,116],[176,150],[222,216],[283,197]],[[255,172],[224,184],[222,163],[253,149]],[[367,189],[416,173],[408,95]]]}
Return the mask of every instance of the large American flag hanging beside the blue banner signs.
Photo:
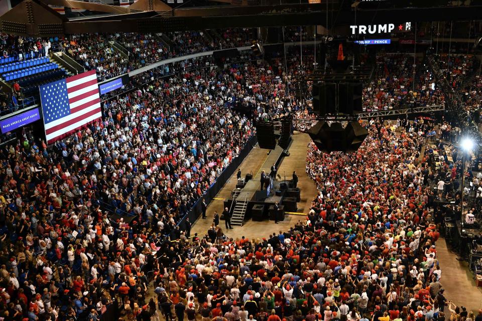
{"label": "large American flag hanging beside the blue banner signs", "polygon": [[47,144],[102,116],[95,70],[40,86],[40,99]]}

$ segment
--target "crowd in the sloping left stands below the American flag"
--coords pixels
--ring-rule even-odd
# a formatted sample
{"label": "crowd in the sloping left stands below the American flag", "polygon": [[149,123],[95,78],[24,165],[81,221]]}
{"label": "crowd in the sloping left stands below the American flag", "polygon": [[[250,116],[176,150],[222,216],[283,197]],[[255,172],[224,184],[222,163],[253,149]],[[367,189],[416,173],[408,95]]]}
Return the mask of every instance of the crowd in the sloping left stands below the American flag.
{"label": "crowd in the sloping left stands below the American flag", "polygon": [[257,70],[244,67],[156,80],[51,148],[26,133],[1,151],[3,315],[95,319],[126,284],[145,294],[164,235],[180,236],[176,223],[253,134],[228,101],[248,96]]}

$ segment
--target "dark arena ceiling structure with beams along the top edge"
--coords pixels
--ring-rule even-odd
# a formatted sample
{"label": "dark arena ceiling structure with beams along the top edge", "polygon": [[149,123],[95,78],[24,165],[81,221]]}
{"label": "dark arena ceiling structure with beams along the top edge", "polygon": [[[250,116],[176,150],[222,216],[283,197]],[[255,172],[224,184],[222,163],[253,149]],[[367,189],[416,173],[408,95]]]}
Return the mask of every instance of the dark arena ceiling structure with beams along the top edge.
{"label": "dark arena ceiling structure with beams along the top edge", "polygon": [[[105,13],[68,19],[47,5]],[[328,8],[328,10],[327,10]],[[333,8],[333,9],[330,9]],[[202,30],[228,27],[296,25],[343,26],[402,21],[467,21],[479,19],[482,5],[436,8],[368,8],[340,10],[323,4],[220,5],[171,8],[161,0],[139,0],[128,8],[72,0],[25,0],[0,17],[0,30],[15,35],[62,36],[76,33]],[[328,12],[328,14],[327,14]],[[328,20],[327,20],[328,19]]]}

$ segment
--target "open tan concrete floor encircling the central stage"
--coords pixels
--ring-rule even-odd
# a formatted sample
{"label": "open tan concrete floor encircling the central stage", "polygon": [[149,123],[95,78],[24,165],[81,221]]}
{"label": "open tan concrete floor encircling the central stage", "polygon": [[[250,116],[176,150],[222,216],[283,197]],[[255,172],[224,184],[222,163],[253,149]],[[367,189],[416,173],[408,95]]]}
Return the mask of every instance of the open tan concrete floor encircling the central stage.
{"label": "open tan concrete floor encircling the central stage", "polygon": [[[285,171],[286,179],[291,180],[293,171],[296,170],[298,175],[298,187],[301,191],[301,202],[298,203],[298,211],[300,213],[307,213],[311,206],[311,201],[317,195],[316,186],[313,181],[305,173],[307,144],[310,141],[308,134],[295,132],[293,134],[293,142],[289,149],[290,156],[285,157],[278,169],[278,174],[283,178]],[[240,165],[242,176],[250,171],[253,172],[253,177],[257,175],[259,170],[268,157],[268,150],[261,149],[258,145],[248,154],[243,163]],[[284,178],[283,178],[284,179]],[[191,228],[191,235],[198,233],[200,236],[204,235],[212,224],[212,215],[214,211],[220,215],[223,211],[223,200],[231,197],[231,191],[236,187],[236,173],[226,182],[223,188],[216,195],[216,198],[209,203],[206,216],[203,220],[198,218]],[[245,236],[247,238],[263,238],[268,237],[270,233],[278,233],[280,230],[285,231],[294,226],[298,220],[303,220],[304,215],[286,215],[285,220],[279,224],[273,221],[254,222],[249,220],[243,226],[233,226],[232,230],[225,230],[224,221],[221,220],[219,225],[223,232],[232,238],[240,238]]]}

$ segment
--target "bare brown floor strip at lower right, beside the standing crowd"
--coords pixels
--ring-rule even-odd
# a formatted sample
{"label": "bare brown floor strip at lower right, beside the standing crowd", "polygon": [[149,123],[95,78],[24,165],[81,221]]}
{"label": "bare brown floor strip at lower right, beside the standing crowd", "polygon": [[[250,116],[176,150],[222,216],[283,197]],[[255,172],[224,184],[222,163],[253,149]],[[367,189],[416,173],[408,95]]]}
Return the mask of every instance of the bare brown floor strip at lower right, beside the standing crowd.
{"label": "bare brown floor strip at lower right, beside the standing crowd", "polygon": [[456,305],[465,306],[467,310],[482,308],[482,287],[475,286],[472,272],[467,262],[456,260],[457,255],[447,248],[445,239],[437,241],[437,259],[442,269],[440,283],[445,289],[445,297]]}

